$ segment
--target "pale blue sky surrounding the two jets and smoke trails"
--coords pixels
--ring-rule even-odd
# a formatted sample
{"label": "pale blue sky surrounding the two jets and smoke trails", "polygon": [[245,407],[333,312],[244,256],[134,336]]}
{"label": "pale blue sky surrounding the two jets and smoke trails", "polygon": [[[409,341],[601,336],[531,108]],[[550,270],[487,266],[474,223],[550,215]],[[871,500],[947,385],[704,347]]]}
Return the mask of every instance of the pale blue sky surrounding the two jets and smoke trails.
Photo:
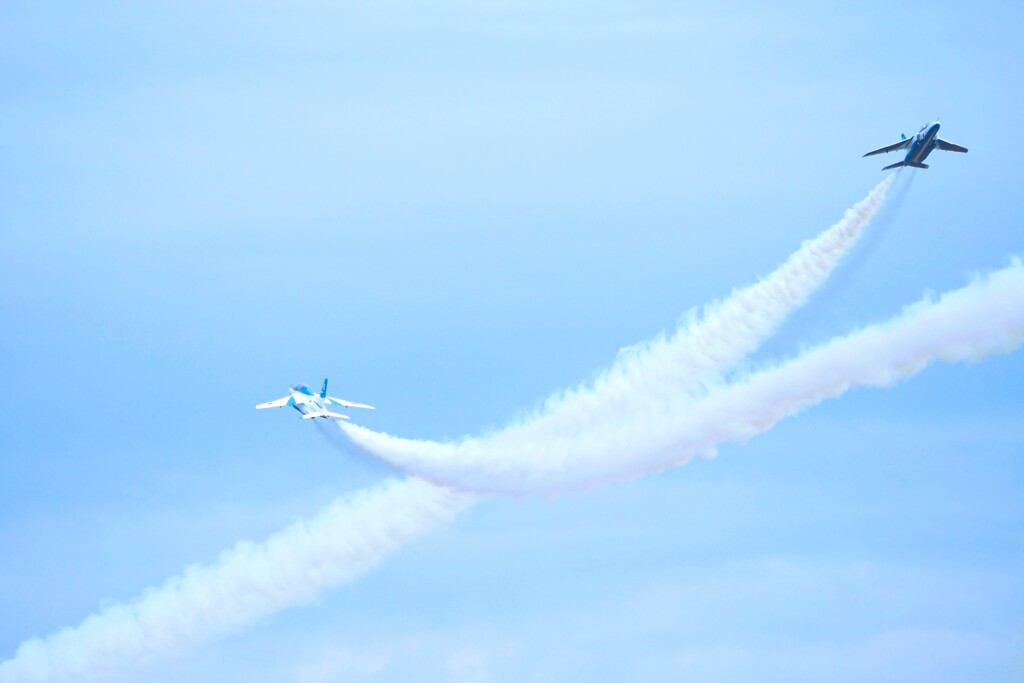
{"label": "pale blue sky surrounding the two jets and smoke trails", "polygon": [[[1021,13],[8,3],[3,658],[392,475],[255,403],[328,376],[374,429],[501,425],[774,268],[935,117],[971,153],[762,355],[1005,265]],[[1022,380],[935,367],[714,461],[483,501],[145,680],[1020,678]]]}

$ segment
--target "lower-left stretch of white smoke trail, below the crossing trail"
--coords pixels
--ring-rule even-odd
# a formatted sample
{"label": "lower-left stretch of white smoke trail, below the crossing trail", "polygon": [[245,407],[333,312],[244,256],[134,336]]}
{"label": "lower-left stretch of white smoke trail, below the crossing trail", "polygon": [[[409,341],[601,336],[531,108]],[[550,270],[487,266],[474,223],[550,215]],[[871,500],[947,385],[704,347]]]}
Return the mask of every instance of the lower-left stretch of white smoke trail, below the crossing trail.
{"label": "lower-left stretch of white smoke trail, below the crossing trail", "polygon": [[136,679],[175,652],[352,581],[472,500],[412,478],[339,499],[262,543],[239,543],[129,603],[26,641],[0,665],[0,682]]}

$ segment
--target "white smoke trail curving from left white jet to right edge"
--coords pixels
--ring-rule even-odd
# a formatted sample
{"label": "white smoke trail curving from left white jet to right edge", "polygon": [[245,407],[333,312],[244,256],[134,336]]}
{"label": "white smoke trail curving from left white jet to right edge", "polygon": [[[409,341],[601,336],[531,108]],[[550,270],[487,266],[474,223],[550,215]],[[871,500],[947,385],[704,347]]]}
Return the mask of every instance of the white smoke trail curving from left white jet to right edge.
{"label": "white smoke trail curving from left white jet to right edge", "polygon": [[[352,441],[407,472],[461,488],[556,492],[681,464],[716,445],[770,429],[783,417],[853,386],[887,386],[929,362],[978,359],[1024,341],[1020,260],[969,286],[925,299],[897,318],[836,339],[774,369],[695,395],[635,400],[614,419],[550,421],[542,432],[515,425],[495,434],[436,443],[345,425]],[[671,375],[644,368],[641,376]],[[628,378],[627,378],[628,379]],[[602,414],[601,405],[593,411]],[[586,425],[586,428],[581,428]],[[561,428],[562,431],[559,431]]]}

